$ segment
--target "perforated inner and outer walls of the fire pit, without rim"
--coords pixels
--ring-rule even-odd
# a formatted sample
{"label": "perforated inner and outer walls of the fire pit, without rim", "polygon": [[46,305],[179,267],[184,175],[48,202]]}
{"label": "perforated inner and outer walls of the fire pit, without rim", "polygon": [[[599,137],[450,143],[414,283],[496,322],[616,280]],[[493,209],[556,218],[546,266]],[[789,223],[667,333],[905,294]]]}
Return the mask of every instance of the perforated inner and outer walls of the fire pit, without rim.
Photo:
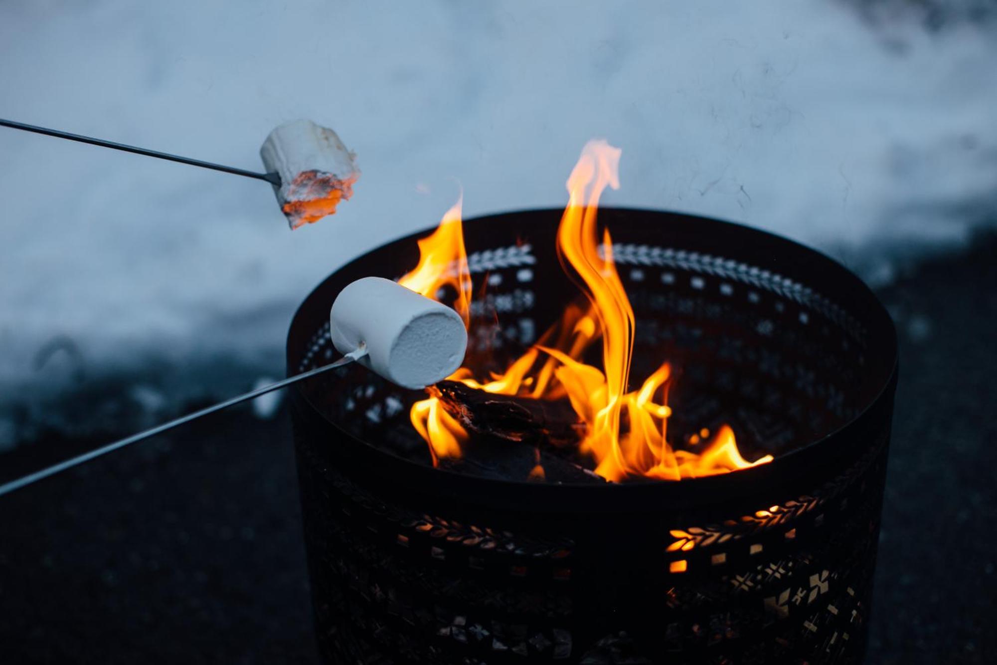
{"label": "perforated inner and outer walls of the fire pit, without rim", "polygon": [[[472,344],[529,343],[534,319],[562,307],[534,279],[531,252],[469,257],[473,274],[491,276],[491,300],[474,316],[501,316],[500,327],[478,327]],[[780,451],[856,412],[846,387],[860,372],[865,333],[830,299],[718,257],[619,244],[614,258],[634,267],[621,276],[639,320],[638,353],[682,356],[691,387],[676,411],[690,432],[731,417],[739,440],[743,433]],[[328,324],[317,325],[297,368],[333,355]],[[410,435],[411,394],[363,368],[330,372],[309,389],[322,416],[355,436],[411,459],[425,454]],[[862,653],[885,426],[862,434],[864,454],[807,493],[710,519],[661,507],[642,521],[639,540],[606,547],[609,518],[560,524],[555,535],[535,518],[505,515],[501,526],[459,518],[460,497],[452,510],[396,499],[337,462],[337,431],[295,417],[316,626],[329,662],[849,663]],[[669,423],[676,436],[683,426]]]}

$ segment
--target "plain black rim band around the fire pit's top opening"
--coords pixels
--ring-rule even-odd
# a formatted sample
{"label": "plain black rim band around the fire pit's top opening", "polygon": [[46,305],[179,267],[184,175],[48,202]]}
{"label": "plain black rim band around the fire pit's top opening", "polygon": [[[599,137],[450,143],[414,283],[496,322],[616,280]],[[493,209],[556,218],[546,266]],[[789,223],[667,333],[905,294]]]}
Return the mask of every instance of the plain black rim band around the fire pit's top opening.
{"label": "plain black rim band around the fire pit's top opening", "polygon": [[[502,218],[519,217],[522,215],[553,216],[559,219],[562,213],[563,209],[558,208],[520,209],[469,218],[464,221],[464,224],[476,226],[490,223],[494,224]],[[494,492],[504,493],[509,491],[511,492],[510,495],[515,495],[519,499],[515,500],[514,503],[520,503],[521,501],[523,505],[528,505],[531,510],[539,509],[540,511],[545,511],[546,508],[544,498],[542,497],[552,497],[556,495],[558,497],[556,502],[558,505],[553,509],[558,512],[563,512],[562,508],[565,505],[564,499],[569,498],[569,495],[577,495],[579,498],[584,495],[590,498],[593,495],[592,492],[600,492],[597,496],[609,496],[606,492],[611,492],[612,496],[614,496],[614,504],[616,503],[615,497],[618,497],[624,501],[625,505],[627,505],[627,510],[632,512],[634,505],[640,505],[642,501],[647,500],[647,498],[651,496],[654,496],[654,498],[658,501],[663,498],[662,495],[670,499],[674,498],[676,502],[669,504],[670,507],[674,509],[681,507],[681,505],[685,502],[682,500],[683,497],[688,496],[696,496],[697,498],[694,501],[695,505],[702,507],[702,497],[706,495],[715,497],[716,502],[721,503],[728,500],[738,499],[749,494],[757,494],[759,487],[768,487],[773,491],[781,492],[792,491],[792,487],[795,484],[792,482],[792,478],[794,475],[799,473],[800,469],[812,468],[816,464],[823,464],[826,462],[826,460],[819,459],[818,457],[822,456],[824,448],[829,445],[831,440],[846,441],[848,439],[860,439],[860,436],[854,434],[859,432],[865,426],[866,422],[873,417],[873,411],[890,407],[892,391],[895,388],[898,375],[896,329],[893,325],[892,319],[878,298],[873,294],[868,286],[864,284],[864,282],[851,273],[851,271],[847,268],[814,248],[768,231],[750,227],[748,225],[719,220],[716,218],[707,218],[686,213],[647,208],[599,208],[600,218],[617,214],[666,216],[689,224],[712,225],[717,229],[726,229],[728,233],[733,232],[735,235],[749,235],[758,241],[764,240],[775,245],[790,246],[797,253],[809,255],[809,260],[824,263],[832,270],[836,270],[838,275],[835,277],[850,280],[852,283],[851,287],[857,288],[859,291],[864,292],[864,296],[866,296],[868,298],[868,302],[872,304],[873,311],[868,314],[870,318],[879,320],[876,322],[876,326],[881,328],[882,341],[885,342],[884,348],[878,350],[885,351],[889,355],[889,369],[886,372],[886,379],[876,390],[875,395],[869,399],[867,403],[864,404],[862,408],[849,420],[820,438],[816,438],[789,452],[780,454],[772,462],[767,464],[741,469],[733,473],[723,473],[698,478],[684,478],[680,481],[637,480],[626,483],[605,483],[599,485],[537,483],[521,479],[484,478],[469,476],[467,474],[462,474],[449,469],[430,467],[416,461],[405,459],[390,450],[380,448],[355,436],[353,433],[340,426],[336,421],[322,413],[321,410],[318,409],[310,398],[304,393],[300,384],[291,388],[293,401],[298,404],[307,405],[308,408],[321,417],[325,424],[334,428],[336,432],[343,437],[342,440],[352,441],[357,444],[357,450],[355,451],[363,451],[361,454],[365,454],[365,456],[371,458],[380,457],[382,459],[382,463],[391,460],[390,464],[385,464],[385,466],[382,467],[382,470],[385,473],[392,475],[397,474],[397,479],[401,482],[405,482],[406,484],[411,483],[413,486],[423,486],[427,483],[432,485],[434,478],[447,478],[447,484],[450,485],[452,489],[462,486],[474,487],[476,492],[486,495],[493,494]],[[401,246],[411,246],[413,251],[415,251],[416,241],[431,232],[432,228],[424,229],[390,240],[342,264],[321,283],[319,283],[319,285],[317,285],[309,293],[305,300],[302,301],[302,304],[295,311],[294,317],[292,318],[292,324],[287,336],[288,375],[299,371],[299,369],[294,365],[294,360],[292,358],[293,354],[299,353],[298,349],[301,347],[301,344],[299,343],[299,335],[296,335],[295,324],[300,321],[299,315],[305,306],[312,301],[313,297],[316,297],[319,292],[329,290],[330,283],[341,279],[341,274],[349,273],[351,269],[355,269],[356,267],[366,263],[372,255],[382,253],[389,247],[395,247],[397,249]],[[469,253],[472,251],[473,248],[469,248]],[[414,254],[413,256],[416,255]],[[399,274],[401,274],[401,272],[402,271],[399,271]],[[392,279],[398,276],[382,275],[382,277]],[[329,302],[331,304],[331,299]],[[311,333],[314,333],[314,331]],[[851,456],[852,459],[855,457],[856,455]],[[794,472],[794,468],[797,469],[797,473]],[[384,473],[382,473],[382,475],[384,475]],[[804,475],[809,475],[809,473],[804,473]],[[612,487],[612,489],[609,489],[610,487]],[[570,501],[568,504],[570,504]],[[585,505],[581,505],[580,503],[578,504],[578,511],[593,511],[593,504],[589,504],[588,500],[585,500],[584,504]],[[596,502],[594,505],[598,506],[599,504]],[[605,507],[607,508],[607,511],[613,511],[610,506],[607,505]],[[601,512],[601,510],[597,507],[594,511]],[[572,510],[572,512],[574,511]]]}

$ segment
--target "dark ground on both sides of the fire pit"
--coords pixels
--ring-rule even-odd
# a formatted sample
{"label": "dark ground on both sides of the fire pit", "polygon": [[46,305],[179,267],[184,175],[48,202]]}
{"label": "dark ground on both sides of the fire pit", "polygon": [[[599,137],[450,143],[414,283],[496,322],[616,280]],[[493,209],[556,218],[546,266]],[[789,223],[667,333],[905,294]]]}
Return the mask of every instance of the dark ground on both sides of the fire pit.
{"label": "dark ground on both sides of the fire pit", "polygon": [[[973,247],[881,291],[901,378],[869,663],[997,662],[997,239]],[[0,476],[103,440],[22,446]],[[317,662],[283,410],[0,499],[0,663],[62,662]]]}

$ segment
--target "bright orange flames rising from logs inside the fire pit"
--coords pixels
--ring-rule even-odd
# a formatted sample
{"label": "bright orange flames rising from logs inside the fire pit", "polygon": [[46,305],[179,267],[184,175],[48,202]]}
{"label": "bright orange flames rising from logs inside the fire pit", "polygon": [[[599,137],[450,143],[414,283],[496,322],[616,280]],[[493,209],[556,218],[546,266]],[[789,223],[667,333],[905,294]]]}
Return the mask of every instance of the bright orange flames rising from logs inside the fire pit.
{"label": "bright orange flames rising from logs inside the fire pit", "polygon": [[[606,187],[619,187],[619,157],[620,150],[605,141],[590,141],[567,181],[568,205],[557,230],[557,251],[564,270],[584,285],[588,306],[565,308],[560,322],[504,373],[482,379],[465,366],[450,378],[498,394],[533,399],[566,397],[585,427],[579,451],[590,456],[595,472],[608,480],[679,480],[771,461],[771,455],[754,462],[742,457],[727,425],[719,427],[712,438],[706,428],[694,435],[696,440],[690,442],[697,444],[696,452],[674,449],[667,439],[671,416],[667,403],[671,367],[667,362],[639,389],[628,391],[633,309],[616,273],[609,232],[602,234],[600,255],[596,228],[600,195]],[[458,203],[437,231],[419,242],[419,266],[400,282],[430,298],[437,298],[443,287],[450,286],[457,293],[455,308],[470,325],[471,278],[460,211]],[[602,342],[603,369],[581,359],[598,339]],[[416,402],[410,415],[430,444],[434,463],[441,457],[461,456],[468,432],[447,413],[437,396]],[[537,463],[529,477],[542,479],[542,466]]]}

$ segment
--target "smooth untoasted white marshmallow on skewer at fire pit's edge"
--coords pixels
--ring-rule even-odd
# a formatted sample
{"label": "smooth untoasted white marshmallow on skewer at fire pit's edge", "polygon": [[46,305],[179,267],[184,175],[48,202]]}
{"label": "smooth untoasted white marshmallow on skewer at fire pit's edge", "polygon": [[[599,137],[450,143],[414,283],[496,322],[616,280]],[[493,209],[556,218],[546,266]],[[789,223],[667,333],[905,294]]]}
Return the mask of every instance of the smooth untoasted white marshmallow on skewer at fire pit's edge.
{"label": "smooth untoasted white marshmallow on skewer at fire pit's edge", "polygon": [[363,278],[339,292],[329,323],[341,353],[366,343],[367,355],[358,361],[408,388],[451,375],[468,348],[454,310],[383,278]]}

